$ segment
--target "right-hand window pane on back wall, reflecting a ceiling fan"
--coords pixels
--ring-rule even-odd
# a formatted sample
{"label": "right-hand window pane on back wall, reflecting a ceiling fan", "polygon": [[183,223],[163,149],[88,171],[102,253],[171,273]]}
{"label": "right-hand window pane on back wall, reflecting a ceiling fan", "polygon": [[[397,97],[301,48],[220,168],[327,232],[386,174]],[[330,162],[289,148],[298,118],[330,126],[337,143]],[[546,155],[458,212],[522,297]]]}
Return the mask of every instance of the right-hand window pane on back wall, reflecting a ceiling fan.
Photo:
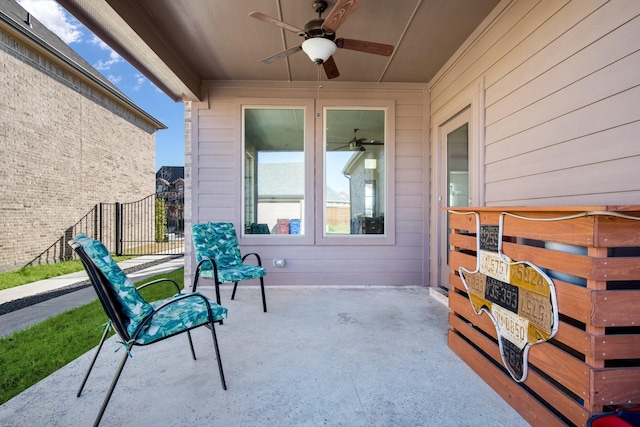
{"label": "right-hand window pane on back wall, reflecting a ceiling fan", "polygon": [[385,111],[325,112],[325,234],[384,234]]}

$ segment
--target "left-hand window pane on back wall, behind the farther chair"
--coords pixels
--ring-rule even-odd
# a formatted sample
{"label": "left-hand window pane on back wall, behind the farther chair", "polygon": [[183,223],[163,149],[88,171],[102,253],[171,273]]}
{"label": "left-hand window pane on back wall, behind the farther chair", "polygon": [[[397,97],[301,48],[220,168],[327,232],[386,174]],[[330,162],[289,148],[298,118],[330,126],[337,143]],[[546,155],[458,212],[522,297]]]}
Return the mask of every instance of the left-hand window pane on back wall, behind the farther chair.
{"label": "left-hand window pane on back wall, behind the farther chair", "polygon": [[305,234],[305,109],[245,107],[244,235]]}

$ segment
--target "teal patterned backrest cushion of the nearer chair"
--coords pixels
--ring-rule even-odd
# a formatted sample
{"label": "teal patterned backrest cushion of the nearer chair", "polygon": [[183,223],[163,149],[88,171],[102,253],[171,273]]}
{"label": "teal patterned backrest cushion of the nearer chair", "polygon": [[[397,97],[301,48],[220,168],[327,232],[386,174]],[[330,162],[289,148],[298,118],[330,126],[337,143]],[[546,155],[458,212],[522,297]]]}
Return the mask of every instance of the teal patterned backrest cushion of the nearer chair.
{"label": "teal patterned backrest cushion of the nearer chair", "polygon": [[132,334],[142,319],[153,312],[153,307],[145,301],[131,279],[118,267],[102,242],[93,240],[85,234],[78,234],[74,240],[82,246],[91,261],[111,284],[122,306],[123,314],[129,318],[127,330]]}

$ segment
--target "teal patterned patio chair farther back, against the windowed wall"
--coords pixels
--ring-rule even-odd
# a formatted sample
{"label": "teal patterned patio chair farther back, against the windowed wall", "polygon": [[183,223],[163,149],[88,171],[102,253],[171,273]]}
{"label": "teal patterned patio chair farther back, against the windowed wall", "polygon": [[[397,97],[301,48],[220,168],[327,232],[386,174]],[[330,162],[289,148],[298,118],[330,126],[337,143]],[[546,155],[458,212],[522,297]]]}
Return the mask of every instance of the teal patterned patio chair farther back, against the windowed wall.
{"label": "teal patterned patio chair farther back, against the windowed wall", "polygon": [[[267,312],[267,300],[264,294],[263,277],[267,270],[262,268],[262,260],[257,253],[241,256],[238,237],[230,222],[209,222],[191,226],[193,246],[195,248],[196,275],[193,280],[193,291],[202,278],[213,279],[216,287],[216,300],[220,304],[220,285],[233,282],[231,299],[236,296],[238,282],[260,279],[262,291],[262,309]],[[258,265],[245,264],[249,256],[254,256]]]}

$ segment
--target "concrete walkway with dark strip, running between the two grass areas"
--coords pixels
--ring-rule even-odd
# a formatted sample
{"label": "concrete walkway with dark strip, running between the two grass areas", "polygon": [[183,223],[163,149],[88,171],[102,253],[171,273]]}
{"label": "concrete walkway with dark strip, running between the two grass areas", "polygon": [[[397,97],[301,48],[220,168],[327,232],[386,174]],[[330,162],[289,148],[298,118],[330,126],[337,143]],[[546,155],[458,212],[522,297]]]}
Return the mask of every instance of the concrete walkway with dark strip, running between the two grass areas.
{"label": "concrete walkway with dark strip, running between the two grass areas", "polygon": [[[147,255],[118,263],[134,282],[184,267],[184,257]],[[97,298],[85,271],[0,291],[0,337]]]}

